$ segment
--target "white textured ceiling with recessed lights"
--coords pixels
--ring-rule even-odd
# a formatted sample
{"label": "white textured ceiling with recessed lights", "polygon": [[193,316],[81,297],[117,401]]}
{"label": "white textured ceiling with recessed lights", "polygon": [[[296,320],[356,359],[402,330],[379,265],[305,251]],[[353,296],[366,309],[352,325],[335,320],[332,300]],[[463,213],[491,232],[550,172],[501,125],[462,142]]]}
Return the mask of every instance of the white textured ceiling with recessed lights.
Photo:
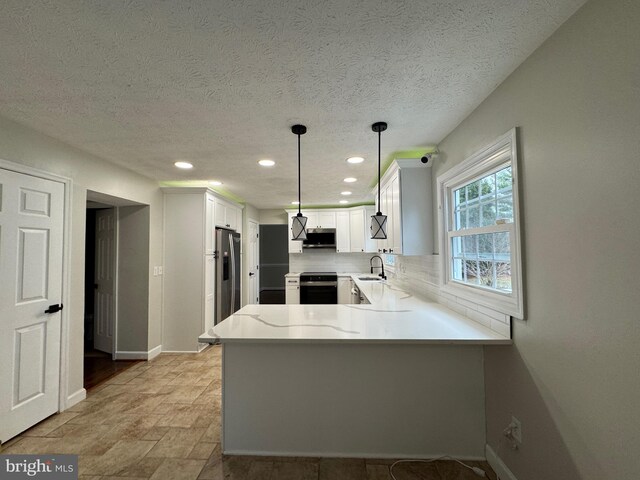
{"label": "white textured ceiling with recessed lights", "polygon": [[303,204],[337,203],[347,176],[363,201],[371,123],[389,123],[383,157],[438,143],[583,3],[3,0],[0,115],[259,208],[297,196],[301,122]]}

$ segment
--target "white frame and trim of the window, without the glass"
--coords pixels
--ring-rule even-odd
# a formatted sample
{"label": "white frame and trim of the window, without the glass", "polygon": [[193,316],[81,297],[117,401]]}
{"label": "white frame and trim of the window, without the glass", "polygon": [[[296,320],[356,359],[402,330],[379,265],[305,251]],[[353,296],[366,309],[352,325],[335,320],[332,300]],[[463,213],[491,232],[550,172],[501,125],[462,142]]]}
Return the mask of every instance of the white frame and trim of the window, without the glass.
{"label": "white frame and trim of the window, without the glass", "polygon": [[[508,228],[511,239],[511,293],[499,292],[480,285],[471,285],[452,278],[451,232],[454,230],[454,192],[475,180],[496,171],[499,167],[511,165],[513,177],[513,223],[500,225],[499,230]],[[477,151],[469,158],[446,171],[437,179],[438,220],[441,257],[441,290],[470,302],[482,305],[516,318],[524,318],[522,288],[522,250],[520,243],[520,200],[519,200],[518,152],[516,129],[513,128],[498,137],[490,145]],[[494,226],[474,229],[473,234],[498,231]],[[459,231],[457,232],[460,233]]]}

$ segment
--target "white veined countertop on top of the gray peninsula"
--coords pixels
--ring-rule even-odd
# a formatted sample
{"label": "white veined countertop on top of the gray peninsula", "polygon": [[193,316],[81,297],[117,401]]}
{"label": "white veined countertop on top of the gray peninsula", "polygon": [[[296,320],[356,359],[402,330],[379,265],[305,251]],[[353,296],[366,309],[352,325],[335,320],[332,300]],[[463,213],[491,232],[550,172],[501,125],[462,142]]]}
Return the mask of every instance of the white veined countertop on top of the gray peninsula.
{"label": "white veined countertop on top of the gray peninsula", "polygon": [[370,305],[247,305],[200,342],[511,344],[511,339],[386,282],[358,280]]}

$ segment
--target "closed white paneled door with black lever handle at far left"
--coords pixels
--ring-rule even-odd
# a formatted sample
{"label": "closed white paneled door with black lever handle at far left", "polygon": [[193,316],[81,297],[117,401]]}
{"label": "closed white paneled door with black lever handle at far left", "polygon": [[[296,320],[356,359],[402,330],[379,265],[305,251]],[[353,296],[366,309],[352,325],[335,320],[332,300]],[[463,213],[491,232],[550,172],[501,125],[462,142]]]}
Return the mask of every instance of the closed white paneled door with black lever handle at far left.
{"label": "closed white paneled door with black lever handle at far left", "polygon": [[58,411],[63,222],[64,184],[0,169],[2,442]]}

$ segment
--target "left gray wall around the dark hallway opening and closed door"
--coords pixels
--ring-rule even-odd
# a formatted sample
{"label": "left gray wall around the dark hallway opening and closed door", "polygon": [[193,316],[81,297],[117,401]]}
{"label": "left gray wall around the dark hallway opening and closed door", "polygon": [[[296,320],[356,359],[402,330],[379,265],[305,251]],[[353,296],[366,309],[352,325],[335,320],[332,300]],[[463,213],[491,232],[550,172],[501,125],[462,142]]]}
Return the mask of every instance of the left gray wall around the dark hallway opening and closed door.
{"label": "left gray wall around the dark hallway opening and closed door", "polygon": [[[0,117],[0,158],[70,178],[73,181],[71,203],[70,305],[68,394],[82,390],[84,330],[84,237],[87,189],[113,197],[149,205],[149,265],[162,265],[162,193],[157,182],[105,162],[44,134]],[[149,269],[141,272],[148,285],[149,349],[160,345],[162,317],[162,277],[153,277]]]}

